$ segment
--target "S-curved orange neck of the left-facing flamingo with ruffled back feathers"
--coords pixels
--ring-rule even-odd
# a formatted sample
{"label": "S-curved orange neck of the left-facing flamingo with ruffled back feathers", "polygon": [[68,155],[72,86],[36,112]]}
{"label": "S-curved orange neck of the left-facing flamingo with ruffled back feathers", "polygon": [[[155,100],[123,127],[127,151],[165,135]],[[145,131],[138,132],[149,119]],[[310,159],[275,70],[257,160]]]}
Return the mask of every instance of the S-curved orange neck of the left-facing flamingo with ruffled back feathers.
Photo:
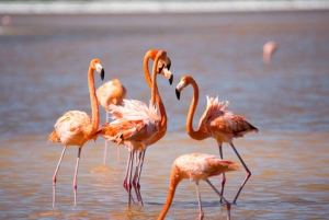
{"label": "S-curved orange neck of the left-facing flamingo with ruffled back feathers", "polygon": [[192,97],[192,102],[190,105],[190,111],[189,111],[189,115],[186,118],[186,132],[189,134],[189,136],[195,140],[203,140],[205,139],[207,136],[206,134],[202,132],[201,130],[201,126],[198,127],[197,130],[193,129],[193,118],[194,118],[194,113],[198,103],[198,86],[196,84],[196,82],[194,81],[193,78],[191,78],[191,84],[193,86],[193,97]]}

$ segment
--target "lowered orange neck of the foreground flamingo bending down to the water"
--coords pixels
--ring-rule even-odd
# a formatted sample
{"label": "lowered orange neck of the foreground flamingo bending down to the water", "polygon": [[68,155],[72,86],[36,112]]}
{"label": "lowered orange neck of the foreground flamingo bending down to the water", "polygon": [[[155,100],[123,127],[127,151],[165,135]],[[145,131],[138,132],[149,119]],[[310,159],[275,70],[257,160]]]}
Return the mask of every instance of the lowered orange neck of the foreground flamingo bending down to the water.
{"label": "lowered orange neck of the foreground flamingo bending down to the water", "polygon": [[158,217],[158,220],[164,219],[164,217],[171,206],[175,188],[181,181],[182,181],[182,177],[180,177],[180,175],[179,175],[179,170],[175,166],[173,166],[171,170],[171,177],[170,177],[170,185],[169,185],[169,190],[168,190],[168,195],[167,195],[167,200],[164,202],[162,211],[160,212],[160,216]]}

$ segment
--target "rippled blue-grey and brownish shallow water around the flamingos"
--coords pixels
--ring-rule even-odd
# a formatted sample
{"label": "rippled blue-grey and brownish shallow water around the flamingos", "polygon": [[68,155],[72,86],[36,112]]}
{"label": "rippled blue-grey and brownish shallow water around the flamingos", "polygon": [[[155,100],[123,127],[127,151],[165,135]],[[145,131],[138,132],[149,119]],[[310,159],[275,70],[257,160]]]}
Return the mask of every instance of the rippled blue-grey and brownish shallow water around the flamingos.
{"label": "rippled blue-grey and brownish shallow water around the flamingos", "polygon": [[[188,73],[201,91],[194,127],[205,96],[218,95],[260,129],[235,140],[252,176],[231,208],[231,219],[328,218],[328,11],[12,15],[11,21],[0,35],[1,219],[156,219],[174,159],[190,152],[218,154],[215,140],[198,142],[185,134],[192,89],[178,101],[174,88]],[[271,39],[280,48],[264,65],[262,45]],[[127,153],[121,149],[117,164],[110,144],[107,164],[102,165],[100,138],[83,147],[76,208],[71,184],[77,148],[68,148],[53,210],[52,176],[63,147],[47,143],[47,138],[63,113],[91,113],[90,60],[100,58],[105,80],[118,78],[128,99],[148,103],[141,65],[150,48],[168,51],[174,80],[170,86],[158,78],[169,121],[167,135],[146,153],[140,180],[145,206],[127,208],[122,187]],[[102,81],[97,77],[95,83]],[[224,146],[224,157],[241,166],[229,146]],[[228,200],[243,178],[243,170],[227,174]],[[220,187],[220,177],[211,181]],[[212,189],[201,183],[201,190],[205,219],[226,219]],[[196,219],[197,215],[195,186],[184,181],[167,217]]]}

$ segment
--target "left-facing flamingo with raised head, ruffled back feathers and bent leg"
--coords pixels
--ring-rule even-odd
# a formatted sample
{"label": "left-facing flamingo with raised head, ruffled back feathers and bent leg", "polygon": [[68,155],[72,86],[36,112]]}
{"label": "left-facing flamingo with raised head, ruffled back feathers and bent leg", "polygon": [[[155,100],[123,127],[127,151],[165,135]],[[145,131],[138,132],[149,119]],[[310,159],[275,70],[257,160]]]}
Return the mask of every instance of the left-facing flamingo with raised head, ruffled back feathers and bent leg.
{"label": "left-facing flamingo with raised head, ruffled back feathers and bent leg", "polygon": [[[251,172],[246,165],[246,163],[243,162],[238,151],[236,150],[236,147],[232,144],[232,139],[243,137],[243,135],[251,131],[258,132],[258,128],[256,128],[253,125],[245,120],[243,117],[238,116],[232,112],[228,111],[227,109],[229,105],[228,102],[220,103],[218,102],[218,97],[214,99],[207,96],[206,109],[200,119],[197,130],[194,130],[192,127],[192,121],[198,102],[198,86],[195,80],[191,76],[188,74],[183,76],[181,78],[180,83],[177,85],[175,94],[179,100],[181,91],[190,84],[193,86],[194,94],[193,94],[193,100],[191,102],[189,115],[186,118],[186,132],[192,139],[195,140],[203,140],[209,137],[216,139],[219,148],[220,159],[223,159],[223,152],[222,152],[223,142],[229,143],[247,172],[246,178],[242,182],[242,185],[240,186],[234,199],[234,204],[236,204],[238,196],[241,193],[245,184],[247,183],[248,178],[251,176]],[[225,173],[223,173],[222,195],[224,193],[225,182],[226,182]]]}

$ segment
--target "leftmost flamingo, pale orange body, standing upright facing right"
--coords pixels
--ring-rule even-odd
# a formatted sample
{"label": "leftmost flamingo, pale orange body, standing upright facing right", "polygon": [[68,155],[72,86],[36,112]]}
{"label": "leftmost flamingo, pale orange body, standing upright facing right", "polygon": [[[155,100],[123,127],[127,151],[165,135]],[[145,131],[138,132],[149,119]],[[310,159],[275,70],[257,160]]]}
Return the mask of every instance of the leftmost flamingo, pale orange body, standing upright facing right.
{"label": "leftmost flamingo, pale orange body, standing upright facing right", "polygon": [[75,206],[77,206],[77,175],[78,175],[78,167],[79,167],[79,160],[81,154],[81,149],[83,144],[91,140],[95,140],[95,131],[99,128],[99,106],[97,101],[95,94],[95,85],[93,79],[93,71],[100,73],[101,79],[104,79],[104,69],[101,66],[99,59],[93,59],[90,62],[89,71],[88,71],[88,85],[89,85],[89,94],[90,94],[90,102],[91,102],[91,112],[92,117],[88,116],[84,112],[80,111],[70,111],[65,113],[60,118],[58,118],[57,123],[55,124],[55,130],[50,134],[48,141],[52,142],[61,142],[64,144],[64,150],[59,158],[57,167],[53,175],[53,207],[55,207],[55,194],[56,194],[56,180],[57,180],[57,172],[68,146],[78,146],[78,158],[76,164],[76,172],[73,177],[73,194],[75,194]]}

